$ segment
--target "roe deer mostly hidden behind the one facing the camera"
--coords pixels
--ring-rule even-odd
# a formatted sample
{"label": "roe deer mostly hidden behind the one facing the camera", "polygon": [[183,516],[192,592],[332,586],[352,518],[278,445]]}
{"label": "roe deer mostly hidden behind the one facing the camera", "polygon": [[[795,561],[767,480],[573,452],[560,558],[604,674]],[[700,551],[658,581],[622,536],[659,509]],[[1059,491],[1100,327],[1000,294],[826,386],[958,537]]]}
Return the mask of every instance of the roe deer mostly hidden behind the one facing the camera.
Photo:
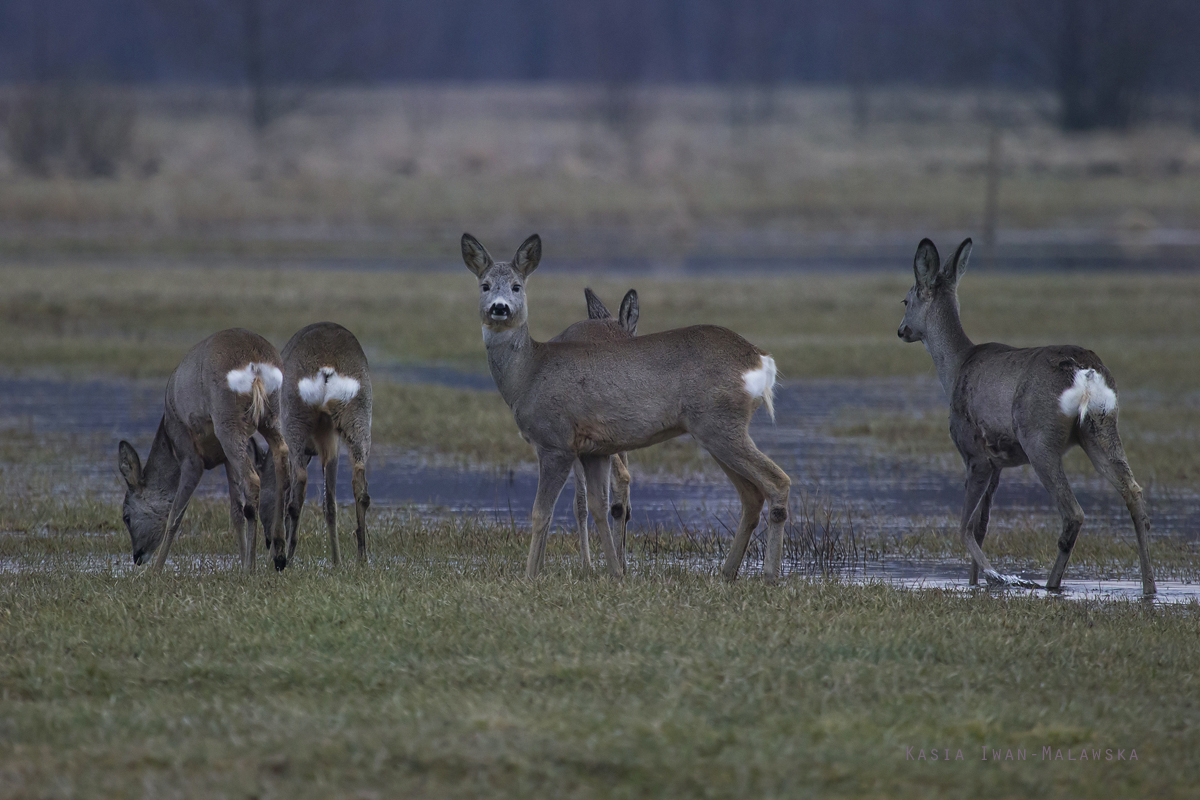
{"label": "roe deer mostly hidden behind the one facing the camera", "polygon": [[[550,339],[551,342],[608,342],[612,339],[629,338],[637,336],[637,293],[632,289],[625,293],[617,312],[617,319],[604,305],[600,297],[592,289],[583,290],[583,297],[588,305],[588,318],[575,323],[565,331]],[[622,567],[625,566],[625,529],[629,525],[634,511],[629,505],[629,485],[632,479],[629,476],[628,453],[617,453],[611,459],[613,469],[612,479],[612,518],[617,522],[613,531],[613,540],[617,543],[617,554]],[[575,462],[575,524],[580,531],[580,558],[583,566],[592,567],[592,551],[588,543],[588,485],[583,476],[583,464]]]}

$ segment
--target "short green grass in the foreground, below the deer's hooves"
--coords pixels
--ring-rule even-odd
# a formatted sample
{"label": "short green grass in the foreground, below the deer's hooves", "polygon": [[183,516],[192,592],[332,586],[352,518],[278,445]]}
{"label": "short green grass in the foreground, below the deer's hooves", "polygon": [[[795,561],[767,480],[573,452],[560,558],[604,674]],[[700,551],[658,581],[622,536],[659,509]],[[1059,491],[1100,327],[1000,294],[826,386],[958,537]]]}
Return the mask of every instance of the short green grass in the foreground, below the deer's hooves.
{"label": "short green grass in the foreground, below the deer's hooves", "polygon": [[[4,540],[38,569],[0,576],[0,796],[1188,796],[1200,778],[1195,607],[727,585],[670,560],[614,583],[565,537],[527,583],[511,529],[403,512],[377,521],[372,566],[246,577],[209,558],[233,552],[211,505],[162,577],[79,570],[127,558],[124,534]],[[306,527],[301,554],[320,547]]]}

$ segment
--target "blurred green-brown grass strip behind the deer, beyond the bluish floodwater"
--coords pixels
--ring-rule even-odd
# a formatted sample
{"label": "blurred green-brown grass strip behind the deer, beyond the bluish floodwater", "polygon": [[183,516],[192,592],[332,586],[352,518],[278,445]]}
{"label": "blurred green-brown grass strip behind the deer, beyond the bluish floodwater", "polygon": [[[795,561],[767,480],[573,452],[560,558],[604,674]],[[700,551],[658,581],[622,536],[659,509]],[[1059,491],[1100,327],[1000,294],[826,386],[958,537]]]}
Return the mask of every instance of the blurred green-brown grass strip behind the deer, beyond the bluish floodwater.
{"label": "blurred green-brown grass strip behind the deer, beyond the bluish floodwater", "polygon": [[[494,242],[505,253],[506,242]],[[550,338],[584,314],[583,287],[616,306],[638,290],[640,330],[726,325],[770,350],[786,379],[931,374],[929,355],[895,337],[911,270],[671,278],[556,275],[553,257],[530,283],[530,326]],[[377,363],[440,363],[482,372],[474,279],[462,270],[322,271],[234,266],[0,266],[0,367],[76,375],[164,378],[208,333],[257,330],[281,345],[300,326],[334,319]],[[1072,342],[1094,349],[1117,377],[1122,426],[1139,474],[1170,483],[1200,474],[1192,446],[1200,391],[1200,277],[1170,273],[968,273],[962,317],[977,342]],[[378,381],[378,444],[479,463],[528,462],[532,451],[498,395]],[[848,419],[910,455],[950,453],[940,414]],[[635,458],[640,469],[688,470],[688,444]],[[1080,464],[1075,464],[1080,467]]]}

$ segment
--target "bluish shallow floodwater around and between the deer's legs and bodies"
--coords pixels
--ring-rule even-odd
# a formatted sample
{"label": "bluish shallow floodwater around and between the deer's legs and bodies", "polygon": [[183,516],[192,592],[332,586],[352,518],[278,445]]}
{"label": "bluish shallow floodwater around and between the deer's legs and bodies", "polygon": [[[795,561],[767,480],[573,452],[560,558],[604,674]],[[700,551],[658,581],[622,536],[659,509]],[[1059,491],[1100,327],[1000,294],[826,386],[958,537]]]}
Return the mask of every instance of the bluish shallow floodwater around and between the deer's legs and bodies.
{"label": "bluish shallow floodwater around and between the deer's legs and bodies", "polygon": [[[464,373],[432,366],[377,366],[376,380],[433,383],[456,389],[494,391],[486,374]],[[8,377],[0,381],[0,427],[31,428],[46,434],[80,434],[89,441],[112,441],[113,458],[103,455],[77,459],[65,469],[56,486],[64,492],[88,491],[119,497],[115,444],[126,438],[145,453],[162,415],[162,380],[62,380]],[[760,411],[751,433],[760,447],[793,480],[793,497],[803,503],[832,509],[864,536],[893,540],[930,523],[955,521],[962,501],[962,479],[953,461],[942,465],[901,459],[874,451],[869,443],[829,433],[839,415],[847,411],[938,411],[946,408],[941,386],[931,378],[836,379],[785,381],[776,393],[776,421]],[[947,438],[948,451],[953,447]],[[637,471],[632,488],[636,536],[662,527],[732,529],[738,517],[737,495],[720,473],[673,476]],[[948,467],[947,464],[953,464]],[[350,501],[349,475],[342,459],[338,494]],[[371,495],[377,506],[404,506],[422,515],[473,513],[517,525],[528,522],[536,489],[532,464],[514,469],[456,468],[431,464],[419,453],[377,447],[368,471]],[[1124,504],[1098,477],[1074,477],[1073,486],[1087,528],[1129,535],[1132,525]],[[310,474],[310,498],[320,492],[314,465]],[[223,497],[222,470],[205,475],[199,493]],[[559,498],[557,521],[571,528],[571,488]],[[1153,535],[1195,540],[1200,531],[1200,495],[1147,486]],[[1056,511],[1028,468],[1007,470],[996,494],[992,530],[1019,524],[1030,517],[1052,521]],[[1085,528],[1085,535],[1087,534]],[[1128,529],[1128,530],[1127,530]],[[887,581],[902,585],[960,589],[966,570],[960,564],[899,563],[864,565],[847,573],[853,581]],[[1031,578],[1044,576],[1031,575]],[[1124,587],[1124,583],[1129,583]],[[1078,584],[1078,585],[1076,585]],[[1136,582],[1075,581],[1074,596],[1124,596],[1138,594]],[[1160,583],[1164,597],[1194,597],[1196,588]]]}

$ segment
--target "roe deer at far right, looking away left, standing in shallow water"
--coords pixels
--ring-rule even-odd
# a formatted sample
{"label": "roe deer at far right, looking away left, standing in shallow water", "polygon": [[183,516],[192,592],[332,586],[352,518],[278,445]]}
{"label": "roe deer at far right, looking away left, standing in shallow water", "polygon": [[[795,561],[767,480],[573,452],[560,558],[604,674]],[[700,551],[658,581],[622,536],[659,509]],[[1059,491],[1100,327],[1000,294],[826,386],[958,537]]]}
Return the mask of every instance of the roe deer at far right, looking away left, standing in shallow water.
{"label": "roe deer at far right, looking away left, standing in shallow water", "polygon": [[1117,433],[1112,374],[1094,353],[1080,347],[972,344],[959,320],[958,299],[959,278],[970,255],[970,239],[946,264],[934,242],[920,242],[913,260],[917,282],[904,301],[904,321],[896,333],[905,342],[925,343],[950,401],[950,438],[967,470],[961,536],[972,558],[971,584],[978,583],[982,567],[990,584],[1037,585],[1001,576],[980,548],[1001,470],[1031,464],[1062,515],[1058,559],[1045,587],[1061,588],[1063,570],[1084,524],[1084,512],[1062,469],[1062,456],[1080,445],[1096,471],[1117,488],[1129,509],[1138,536],[1142,593],[1153,595],[1154,576],[1147,552],[1150,519]]}

